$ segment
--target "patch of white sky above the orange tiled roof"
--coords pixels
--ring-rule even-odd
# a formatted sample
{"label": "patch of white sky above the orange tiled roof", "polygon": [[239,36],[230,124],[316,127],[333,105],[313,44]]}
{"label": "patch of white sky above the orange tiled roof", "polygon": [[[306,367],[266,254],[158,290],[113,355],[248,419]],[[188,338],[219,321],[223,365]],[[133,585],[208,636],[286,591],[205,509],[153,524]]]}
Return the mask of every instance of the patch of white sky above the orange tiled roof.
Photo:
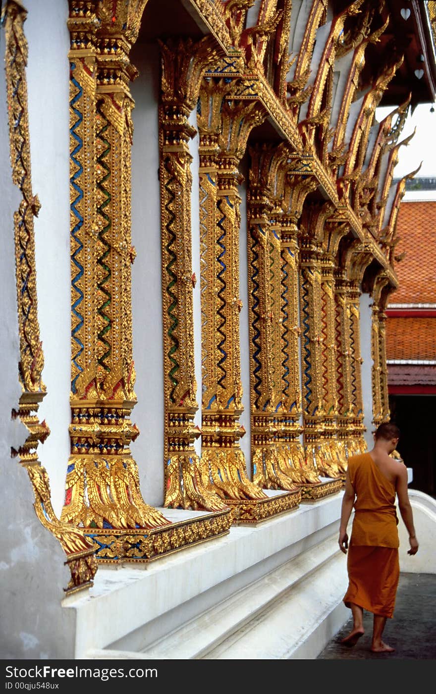
{"label": "patch of white sky above the orange tiled roof", "polygon": [[[412,116],[409,110],[400,142],[413,133],[415,126],[417,130],[410,143],[400,147],[399,162],[394,169],[395,178],[402,178],[406,174],[410,174],[419,167],[421,162],[422,166],[416,177],[436,177],[436,105],[433,104],[434,113],[430,112],[430,108],[432,108],[431,103],[421,103],[417,105]],[[390,107],[378,108],[377,120],[383,120],[392,110]]]}

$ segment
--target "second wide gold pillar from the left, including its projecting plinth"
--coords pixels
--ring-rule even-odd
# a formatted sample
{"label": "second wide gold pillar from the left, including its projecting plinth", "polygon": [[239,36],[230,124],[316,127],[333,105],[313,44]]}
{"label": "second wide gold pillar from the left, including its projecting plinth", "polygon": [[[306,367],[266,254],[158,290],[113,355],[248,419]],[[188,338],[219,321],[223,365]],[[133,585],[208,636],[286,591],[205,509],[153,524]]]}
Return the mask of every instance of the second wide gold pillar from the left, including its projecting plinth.
{"label": "second wide gold pillar from the left, including its projecting plinth", "polygon": [[[202,475],[233,508],[236,523],[257,523],[299,502],[299,493],[274,498],[246,473],[239,440],[242,380],[239,314],[240,194],[238,164],[253,127],[265,112],[258,103],[230,100],[228,84],[203,81],[200,133],[202,312]],[[215,205],[215,214],[214,214]]]}

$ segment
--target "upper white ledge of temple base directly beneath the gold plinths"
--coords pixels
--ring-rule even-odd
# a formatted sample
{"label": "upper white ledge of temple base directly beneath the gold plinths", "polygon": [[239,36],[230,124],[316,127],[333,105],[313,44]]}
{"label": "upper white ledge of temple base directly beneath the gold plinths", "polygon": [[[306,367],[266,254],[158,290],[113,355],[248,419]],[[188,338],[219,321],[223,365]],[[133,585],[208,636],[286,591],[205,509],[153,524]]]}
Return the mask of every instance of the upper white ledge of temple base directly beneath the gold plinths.
{"label": "upper white ledge of temple base directly beneath the gold plinths", "polygon": [[[76,659],[91,650],[120,648],[120,642],[123,650],[143,650],[324,541],[337,532],[342,496],[339,491],[317,502],[304,502],[257,527],[232,526],[223,537],[150,564],[100,565],[86,594],[77,593],[62,602],[76,613]],[[142,648],[135,641],[135,630],[141,632],[137,638]]]}

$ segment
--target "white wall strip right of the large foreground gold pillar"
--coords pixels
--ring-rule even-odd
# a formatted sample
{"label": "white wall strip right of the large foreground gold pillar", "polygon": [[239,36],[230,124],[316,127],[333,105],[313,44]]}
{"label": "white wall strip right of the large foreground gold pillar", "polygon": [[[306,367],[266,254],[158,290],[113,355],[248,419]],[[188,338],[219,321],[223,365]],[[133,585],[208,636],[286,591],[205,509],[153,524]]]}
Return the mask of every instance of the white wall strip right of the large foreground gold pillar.
{"label": "white wall strip right of the large foreground gold pillar", "polygon": [[164,396],[162,352],[162,273],[160,186],[158,178],[158,46],[136,44],[133,65],[139,76],[131,85],[133,109],[132,268],[133,359],[137,405],[132,421],[140,436],[131,444],[144,500],[164,500]]}

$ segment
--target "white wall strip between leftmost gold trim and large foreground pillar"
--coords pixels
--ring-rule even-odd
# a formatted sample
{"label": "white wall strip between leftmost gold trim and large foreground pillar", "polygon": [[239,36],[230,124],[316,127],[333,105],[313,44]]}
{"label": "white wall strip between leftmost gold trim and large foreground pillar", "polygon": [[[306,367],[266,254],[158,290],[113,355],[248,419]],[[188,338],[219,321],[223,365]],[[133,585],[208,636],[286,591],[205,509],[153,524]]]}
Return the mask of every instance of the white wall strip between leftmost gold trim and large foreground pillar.
{"label": "white wall strip between leftmost gold trim and large foreground pillar", "polygon": [[28,0],[28,112],[35,218],[38,317],[47,396],[40,420],[51,434],[40,446],[49,473],[53,509],[65,494],[71,409],[71,270],[69,250],[69,32],[67,0]]}

